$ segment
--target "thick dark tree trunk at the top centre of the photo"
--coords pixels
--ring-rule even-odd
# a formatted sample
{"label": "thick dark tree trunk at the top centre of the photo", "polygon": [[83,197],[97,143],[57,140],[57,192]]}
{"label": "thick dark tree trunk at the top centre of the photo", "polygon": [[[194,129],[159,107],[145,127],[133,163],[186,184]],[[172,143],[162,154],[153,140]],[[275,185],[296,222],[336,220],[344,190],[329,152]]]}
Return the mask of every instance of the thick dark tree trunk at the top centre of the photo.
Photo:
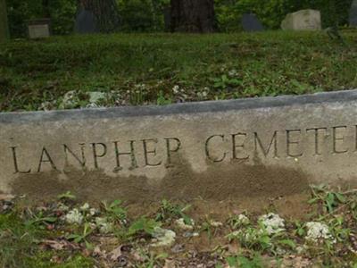
{"label": "thick dark tree trunk at the top centre of the photo", "polygon": [[214,0],[171,0],[171,31],[212,32]]}

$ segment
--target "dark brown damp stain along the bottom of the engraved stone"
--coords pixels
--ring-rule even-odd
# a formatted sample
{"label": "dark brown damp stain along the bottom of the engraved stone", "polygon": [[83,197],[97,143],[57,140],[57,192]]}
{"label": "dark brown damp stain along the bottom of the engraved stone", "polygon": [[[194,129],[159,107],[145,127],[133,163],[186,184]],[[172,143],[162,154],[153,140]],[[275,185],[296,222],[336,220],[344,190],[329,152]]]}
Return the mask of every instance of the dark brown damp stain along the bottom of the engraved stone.
{"label": "dark brown damp stain along the bottom of the engraved stone", "polygon": [[195,173],[188,163],[181,160],[157,185],[149,183],[144,176],[112,178],[101,171],[73,170],[66,176],[68,180],[61,180],[58,172],[23,174],[13,181],[13,193],[46,199],[70,190],[79,200],[121,199],[139,203],[162,198],[184,201],[196,197],[213,201],[276,198],[309,189],[308,176],[303,172],[245,163],[218,163],[211,165],[206,172]]}

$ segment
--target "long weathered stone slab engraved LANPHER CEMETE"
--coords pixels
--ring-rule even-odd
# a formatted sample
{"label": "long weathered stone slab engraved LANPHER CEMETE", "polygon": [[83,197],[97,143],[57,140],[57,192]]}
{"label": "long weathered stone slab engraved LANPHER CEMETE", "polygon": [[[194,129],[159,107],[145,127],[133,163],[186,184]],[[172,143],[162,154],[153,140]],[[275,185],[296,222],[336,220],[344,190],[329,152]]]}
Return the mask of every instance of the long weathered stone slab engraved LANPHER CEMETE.
{"label": "long weathered stone slab engraved LANPHER CEMETE", "polygon": [[0,113],[0,188],[129,201],[280,196],[357,184],[357,90]]}

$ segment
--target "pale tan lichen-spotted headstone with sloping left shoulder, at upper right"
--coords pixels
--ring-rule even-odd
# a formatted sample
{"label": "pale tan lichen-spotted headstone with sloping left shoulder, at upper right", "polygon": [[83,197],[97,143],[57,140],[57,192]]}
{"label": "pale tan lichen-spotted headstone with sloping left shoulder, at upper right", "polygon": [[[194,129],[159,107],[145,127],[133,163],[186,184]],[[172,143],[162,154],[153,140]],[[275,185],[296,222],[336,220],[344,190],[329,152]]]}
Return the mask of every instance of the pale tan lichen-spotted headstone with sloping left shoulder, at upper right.
{"label": "pale tan lichen-spotted headstone with sloping left shoulder, at upper right", "polygon": [[281,29],[319,30],[321,29],[320,11],[306,9],[289,13],[281,22]]}

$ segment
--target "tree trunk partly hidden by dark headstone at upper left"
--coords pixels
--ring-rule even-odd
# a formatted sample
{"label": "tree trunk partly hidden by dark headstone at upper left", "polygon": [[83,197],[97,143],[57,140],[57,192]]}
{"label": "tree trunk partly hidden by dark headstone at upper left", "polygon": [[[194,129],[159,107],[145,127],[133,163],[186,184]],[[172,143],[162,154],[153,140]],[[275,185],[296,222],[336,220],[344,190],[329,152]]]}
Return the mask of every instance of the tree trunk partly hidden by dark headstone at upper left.
{"label": "tree trunk partly hidden by dark headstone at upper left", "polygon": [[79,0],[79,5],[95,15],[97,28],[101,32],[111,32],[119,27],[116,0]]}

